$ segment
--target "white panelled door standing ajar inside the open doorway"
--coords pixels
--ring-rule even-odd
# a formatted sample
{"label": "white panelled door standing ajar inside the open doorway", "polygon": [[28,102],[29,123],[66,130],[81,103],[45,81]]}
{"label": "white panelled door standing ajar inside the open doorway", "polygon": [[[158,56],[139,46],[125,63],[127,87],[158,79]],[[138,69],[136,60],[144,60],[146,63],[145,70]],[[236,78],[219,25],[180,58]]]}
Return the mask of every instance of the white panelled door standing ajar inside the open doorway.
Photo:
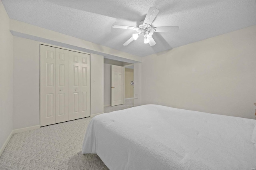
{"label": "white panelled door standing ajar inside the open doorway", "polygon": [[124,67],[111,65],[111,106],[124,104]]}

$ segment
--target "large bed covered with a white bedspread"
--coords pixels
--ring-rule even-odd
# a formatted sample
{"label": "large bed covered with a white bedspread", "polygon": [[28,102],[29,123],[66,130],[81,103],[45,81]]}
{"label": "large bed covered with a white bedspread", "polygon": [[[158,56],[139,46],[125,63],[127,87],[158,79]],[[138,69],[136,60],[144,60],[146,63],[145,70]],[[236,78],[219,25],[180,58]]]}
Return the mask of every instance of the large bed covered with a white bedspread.
{"label": "large bed covered with a white bedspread", "polygon": [[82,153],[109,169],[256,168],[256,120],[160,105],[94,117]]}

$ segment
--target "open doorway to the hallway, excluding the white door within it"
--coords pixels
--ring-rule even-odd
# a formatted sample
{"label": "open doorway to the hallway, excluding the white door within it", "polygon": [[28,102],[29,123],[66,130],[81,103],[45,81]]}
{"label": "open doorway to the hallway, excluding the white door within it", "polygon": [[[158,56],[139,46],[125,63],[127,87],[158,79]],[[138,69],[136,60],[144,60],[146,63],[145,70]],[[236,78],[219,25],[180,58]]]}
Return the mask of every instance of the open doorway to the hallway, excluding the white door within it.
{"label": "open doorway to the hallway, excluding the white door within it", "polygon": [[[111,107],[111,65],[124,67],[124,104]],[[126,67],[127,66],[127,67]],[[126,79],[127,78],[127,79]],[[104,113],[133,107],[133,64],[104,58]],[[128,85],[129,84],[129,85]],[[131,85],[132,84],[132,85]]]}

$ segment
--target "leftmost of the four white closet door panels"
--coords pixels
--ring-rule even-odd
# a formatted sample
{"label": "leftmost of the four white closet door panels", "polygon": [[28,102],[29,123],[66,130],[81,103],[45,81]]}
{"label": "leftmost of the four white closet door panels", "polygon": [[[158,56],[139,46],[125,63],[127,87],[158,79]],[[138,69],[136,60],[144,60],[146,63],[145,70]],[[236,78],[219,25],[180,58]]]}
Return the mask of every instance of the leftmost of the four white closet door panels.
{"label": "leftmost of the four white closet door panels", "polygon": [[40,45],[40,125],[55,123],[55,48]]}

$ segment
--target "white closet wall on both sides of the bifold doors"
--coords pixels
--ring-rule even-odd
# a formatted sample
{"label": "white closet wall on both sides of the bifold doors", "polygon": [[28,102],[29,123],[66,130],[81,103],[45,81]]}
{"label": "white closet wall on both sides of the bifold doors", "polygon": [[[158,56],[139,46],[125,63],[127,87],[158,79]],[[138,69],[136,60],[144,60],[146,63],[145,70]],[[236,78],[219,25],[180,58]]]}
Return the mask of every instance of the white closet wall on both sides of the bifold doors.
{"label": "white closet wall on both sides of the bifold doors", "polygon": [[[14,37],[14,129],[40,125],[40,42]],[[103,112],[103,56],[91,55],[91,114]],[[96,83],[93,83],[95,79]]]}

